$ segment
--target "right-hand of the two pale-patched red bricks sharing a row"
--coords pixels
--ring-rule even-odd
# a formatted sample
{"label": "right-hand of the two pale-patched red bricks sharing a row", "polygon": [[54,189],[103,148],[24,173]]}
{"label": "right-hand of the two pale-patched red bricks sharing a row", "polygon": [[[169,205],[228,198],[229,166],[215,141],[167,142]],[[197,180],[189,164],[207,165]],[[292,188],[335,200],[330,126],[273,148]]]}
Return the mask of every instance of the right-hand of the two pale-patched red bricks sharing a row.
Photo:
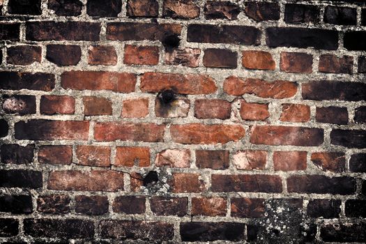
{"label": "right-hand of the two pale-patched red bricks sharing a row", "polygon": [[266,162],[266,151],[237,151],[233,155],[233,165],[236,167],[236,169],[265,169]]}

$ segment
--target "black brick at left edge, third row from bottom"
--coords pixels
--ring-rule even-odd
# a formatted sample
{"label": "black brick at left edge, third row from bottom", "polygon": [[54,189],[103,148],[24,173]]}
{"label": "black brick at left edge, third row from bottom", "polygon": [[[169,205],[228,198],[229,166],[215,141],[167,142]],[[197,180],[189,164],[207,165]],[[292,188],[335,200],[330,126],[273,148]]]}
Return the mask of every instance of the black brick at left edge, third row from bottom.
{"label": "black brick at left edge, third row from bottom", "polygon": [[2,188],[42,188],[40,171],[22,169],[1,169],[0,187]]}

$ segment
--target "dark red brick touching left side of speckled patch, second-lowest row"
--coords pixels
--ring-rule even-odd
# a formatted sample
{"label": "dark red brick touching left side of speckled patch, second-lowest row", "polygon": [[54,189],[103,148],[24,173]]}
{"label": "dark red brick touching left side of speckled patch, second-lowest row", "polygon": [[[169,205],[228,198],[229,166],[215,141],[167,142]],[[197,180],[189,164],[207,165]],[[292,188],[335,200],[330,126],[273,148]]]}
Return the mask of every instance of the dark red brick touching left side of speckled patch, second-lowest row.
{"label": "dark red brick touching left side of speckled patch, second-lowest row", "polygon": [[236,218],[261,218],[264,216],[264,199],[232,198],[231,216]]}

